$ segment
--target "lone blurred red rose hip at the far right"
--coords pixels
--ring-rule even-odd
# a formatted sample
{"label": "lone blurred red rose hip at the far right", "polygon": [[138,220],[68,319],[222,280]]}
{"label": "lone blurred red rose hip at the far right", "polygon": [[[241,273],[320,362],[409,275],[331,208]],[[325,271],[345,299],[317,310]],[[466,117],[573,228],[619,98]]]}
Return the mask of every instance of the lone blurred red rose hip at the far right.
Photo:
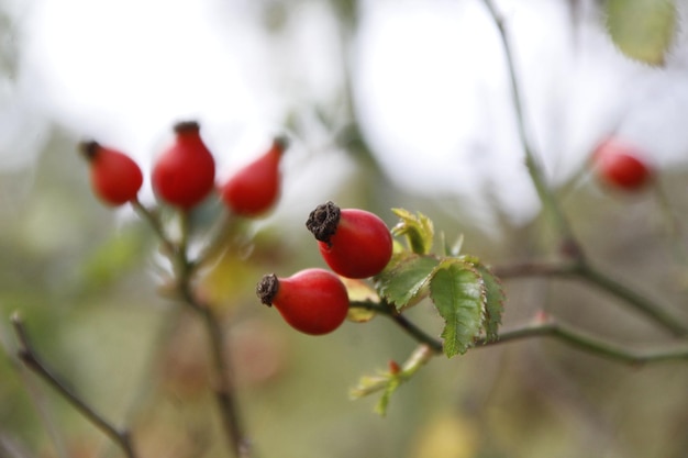
{"label": "lone blurred red rose hip at the far right", "polygon": [[615,138],[608,138],[596,148],[592,165],[600,180],[626,191],[642,189],[653,174],[641,152]]}

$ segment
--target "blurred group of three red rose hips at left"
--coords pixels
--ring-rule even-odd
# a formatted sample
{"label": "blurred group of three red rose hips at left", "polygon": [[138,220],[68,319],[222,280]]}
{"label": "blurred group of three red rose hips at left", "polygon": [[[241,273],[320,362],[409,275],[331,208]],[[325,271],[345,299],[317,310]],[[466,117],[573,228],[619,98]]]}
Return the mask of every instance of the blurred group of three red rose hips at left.
{"label": "blurred group of three red rose hips at left", "polygon": [[[175,138],[153,166],[151,183],[160,201],[189,211],[217,189],[234,214],[255,217],[279,198],[279,163],[288,143],[278,137],[260,157],[215,186],[215,161],[196,121],[175,124]],[[124,153],[89,141],[81,143],[89,161],[93,192],[104,203],[119,206],[136,201],[143,185],[138,165]]]}

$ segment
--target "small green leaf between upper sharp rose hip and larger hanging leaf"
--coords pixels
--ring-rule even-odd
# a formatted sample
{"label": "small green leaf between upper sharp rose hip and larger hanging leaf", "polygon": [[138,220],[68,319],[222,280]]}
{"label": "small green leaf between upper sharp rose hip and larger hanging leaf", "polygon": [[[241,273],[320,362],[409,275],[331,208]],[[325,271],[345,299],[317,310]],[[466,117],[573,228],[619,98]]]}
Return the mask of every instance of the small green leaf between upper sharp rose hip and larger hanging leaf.
{"label": "small green leaf between upper sharp rose hip and larger hanging leaf", "polygon": [[432,256],[396,255],[376,277],[376,288],[385,300],[401,310],[421,300],[440,260]]}

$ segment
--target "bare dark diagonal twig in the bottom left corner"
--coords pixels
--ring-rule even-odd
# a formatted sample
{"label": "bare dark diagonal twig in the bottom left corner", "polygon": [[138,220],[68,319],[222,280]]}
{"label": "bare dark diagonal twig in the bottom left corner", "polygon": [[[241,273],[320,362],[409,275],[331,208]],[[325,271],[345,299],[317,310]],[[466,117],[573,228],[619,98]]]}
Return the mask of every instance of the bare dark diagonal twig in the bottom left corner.
{"label": "bare dark diagonal twig in the bottom left corner", "polygon": [[29,339],[29,335],[24,328],[24,323],[19,313],[14,313],[11,321],[20,344],[18,356],[24,365],[53,387],[53,389],[65,398],[81,415],[91,422],[93,426],[110,437],[110,439],[122,449],[127,458],[136,458],[136,453],[134,451],[129,431],[118,429],[114,425],[108,422],[78,394],[69,390],[67,386],[60,381],[57,376],[55,376],[53,371],[45,366],[45,364],[43,364],[31,345],[31,340]]}

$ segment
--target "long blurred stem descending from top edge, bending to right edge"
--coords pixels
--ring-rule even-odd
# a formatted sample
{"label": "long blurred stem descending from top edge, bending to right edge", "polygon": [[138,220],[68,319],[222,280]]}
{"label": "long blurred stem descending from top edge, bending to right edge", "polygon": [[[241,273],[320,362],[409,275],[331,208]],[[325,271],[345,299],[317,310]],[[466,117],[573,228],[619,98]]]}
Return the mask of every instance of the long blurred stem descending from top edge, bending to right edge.
{"label": "long blurred stem descending from top edge, bending to right edge", "polygon": [[558,233],[562,237],[562,250],[567,255],[567,258],[573,260],[573,265],[566,265],[562,270],[553,269],[553,270],[540,270],[536,272],[539,275],[562,275],[562,276],[576,276],[588,282],[610,292],[614,295],[623,299],[626,304],[633,306],[639,312],[643,313],[648,319],[653,320],[655,323],[664,326],[666,329],[672,332],[674,335],[684,336],[688,334],[688,326],[680,323],[675,316],[670,313],[666,312],[664,309],[659,308],[653,301],[646,299],[642,294],[626,287],[625,284],[620,283],[611,279],[610,277],[603,275],[596,268],[591,267],[585,256],[584,249],[580,246],[577,238],[574,236],[574,233],[570,228],[569,222],[562,210],[556,197],[547,186],[545,180],[544,172],[542,170],[542,166],[535,157],[534,149],[530,143],[528,137],[526,129],[525,129],[525,119],[523,111],[523,102],[519,88],[519,83],[517,80],[515,66],[513,63],[513,53],[511,51],[511,44],[509,42],[509,37],[507,35],[507,31],[504,29],[504,23],[495,8],[492,0],[482,0],[485,7],[487,8],[490,16],[492,18],[498,31],[499,37],[502,43],[502,47],[504,49],[504,57],[507,59],[507,69],[509,74],[509,81],[511,85],[511,97],[515,111],[517,125],[519,130],[519,136],[521,139],[521,144],[523,146],[525,153],[525,165],[528,167],[528,171],[531,176],[531,180],[537,191],[537,196],[542,202],[544,210],[554,219],[554,224],[558,230]]}

